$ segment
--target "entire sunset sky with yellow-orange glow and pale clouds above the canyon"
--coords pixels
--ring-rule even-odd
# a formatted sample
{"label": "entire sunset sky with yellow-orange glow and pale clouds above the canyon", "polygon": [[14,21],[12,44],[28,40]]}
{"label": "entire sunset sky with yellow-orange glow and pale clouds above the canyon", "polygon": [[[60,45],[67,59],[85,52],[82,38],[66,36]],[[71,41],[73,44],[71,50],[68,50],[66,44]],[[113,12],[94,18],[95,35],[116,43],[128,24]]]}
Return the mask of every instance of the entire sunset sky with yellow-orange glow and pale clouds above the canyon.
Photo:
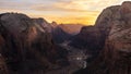
{"label": "entire sunset sky with yellow-orange glow and pale clouds above the canyon", "polygon": [[124,0],[0,0],[0,13],[19,12],[48,22],[93,25],[103,9]]}

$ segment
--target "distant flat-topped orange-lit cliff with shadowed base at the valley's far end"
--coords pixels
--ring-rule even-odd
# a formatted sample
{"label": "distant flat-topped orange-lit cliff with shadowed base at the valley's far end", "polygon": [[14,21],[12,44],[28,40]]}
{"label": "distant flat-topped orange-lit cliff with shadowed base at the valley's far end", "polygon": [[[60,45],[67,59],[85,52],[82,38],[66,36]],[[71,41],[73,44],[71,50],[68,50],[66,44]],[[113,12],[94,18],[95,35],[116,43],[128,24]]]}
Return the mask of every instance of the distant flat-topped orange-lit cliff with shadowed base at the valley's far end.
{"label": "distant flat-topped orange-lit cliff with shadowed base at the valley's far end", "polygon": [[57,25],[56,22],[51,23],[52,38],[55,42],[62,44],[63,41],[70,40],[74,35],[80,33],[82,25],[75,24],[60,24]]}

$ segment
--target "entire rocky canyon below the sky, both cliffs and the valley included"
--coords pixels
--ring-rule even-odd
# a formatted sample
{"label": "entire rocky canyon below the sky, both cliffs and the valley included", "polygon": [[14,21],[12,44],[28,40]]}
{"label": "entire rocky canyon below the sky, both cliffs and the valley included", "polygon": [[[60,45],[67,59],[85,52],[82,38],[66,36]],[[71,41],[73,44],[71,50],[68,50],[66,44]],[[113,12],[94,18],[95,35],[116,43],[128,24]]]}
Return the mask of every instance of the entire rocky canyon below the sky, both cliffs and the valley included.
{"label": "entire rocky canyon below the sky, both cliffs and the valley included", "polygon": [[92,26],[0,14],[0,74],[131,74],[130,7],[104,9]]}

